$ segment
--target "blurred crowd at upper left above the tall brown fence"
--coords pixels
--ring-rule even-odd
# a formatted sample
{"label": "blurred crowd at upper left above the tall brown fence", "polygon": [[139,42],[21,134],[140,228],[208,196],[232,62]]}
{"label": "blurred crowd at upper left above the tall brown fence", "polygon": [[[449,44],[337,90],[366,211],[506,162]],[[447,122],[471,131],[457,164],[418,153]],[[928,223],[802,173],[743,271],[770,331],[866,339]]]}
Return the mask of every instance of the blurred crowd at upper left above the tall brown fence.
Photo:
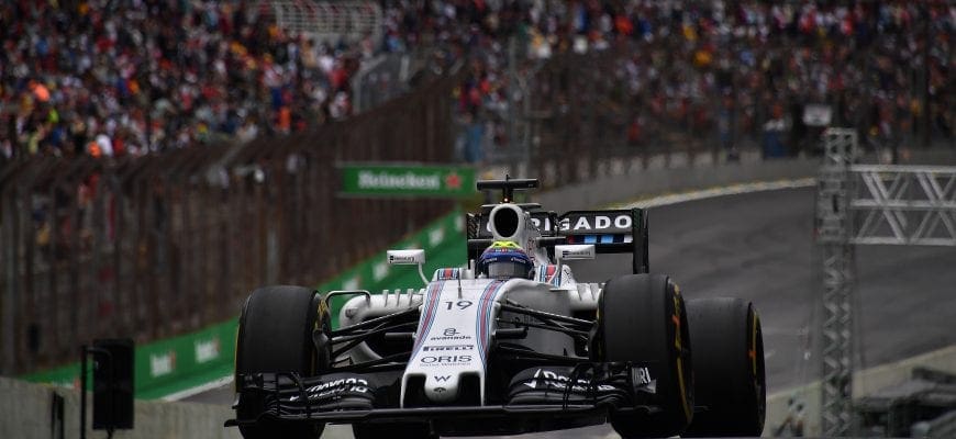
{"label": "blurred crowd at upper left above the tall brown fence", "polygon": [[259,4],[2,2],[3,157],[248,140],[325,121],[332,98],[347,116],[356,55],[284,33]]}

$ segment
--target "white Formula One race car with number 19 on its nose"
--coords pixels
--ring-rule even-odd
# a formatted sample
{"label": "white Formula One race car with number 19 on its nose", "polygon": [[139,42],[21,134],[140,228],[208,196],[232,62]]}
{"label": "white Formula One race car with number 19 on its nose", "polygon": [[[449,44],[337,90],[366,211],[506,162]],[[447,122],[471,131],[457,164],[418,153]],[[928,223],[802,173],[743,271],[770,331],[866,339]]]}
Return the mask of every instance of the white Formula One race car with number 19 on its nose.
{"label": "white Formula One race car with number 19 on its nose", "polygon": [[[648,273],[645,211],[514,203],[536,180],[479,181],[468,266],[416,291],[268,286],[240,319],[236,418],[247,439],[513,435],[610,421],[625,438],[759,436],[760,320],[736,299],[685,301]],[[631,274],[581,283],[565,262],[630,252]],[[422,250],[389,263],[421,264]],[[423,280],[424,275],[422,275]],[[330,300],[352,296],[331,328]]]}

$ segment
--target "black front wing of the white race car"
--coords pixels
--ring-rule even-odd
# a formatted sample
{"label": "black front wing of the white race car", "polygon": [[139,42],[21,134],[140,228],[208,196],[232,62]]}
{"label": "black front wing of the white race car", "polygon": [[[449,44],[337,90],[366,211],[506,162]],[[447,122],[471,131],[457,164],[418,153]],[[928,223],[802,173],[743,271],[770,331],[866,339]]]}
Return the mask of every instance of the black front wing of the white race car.
{"label": "black front wing of the white race car", "polygon": [[[238,398],[257,398],[263,413],[226,426],[265,419],[292,423],[433,421],[445,432],[516,434],[602,424],[612,412],[659,410],[646,369],[627,363],[531,368],[515,374],[492,405],[422,405],[398,408],[399,372],[255,373],[238,378]],[[237,401],[238,404],[238,401]],[[559,415],[559,416],[558,416]]]}

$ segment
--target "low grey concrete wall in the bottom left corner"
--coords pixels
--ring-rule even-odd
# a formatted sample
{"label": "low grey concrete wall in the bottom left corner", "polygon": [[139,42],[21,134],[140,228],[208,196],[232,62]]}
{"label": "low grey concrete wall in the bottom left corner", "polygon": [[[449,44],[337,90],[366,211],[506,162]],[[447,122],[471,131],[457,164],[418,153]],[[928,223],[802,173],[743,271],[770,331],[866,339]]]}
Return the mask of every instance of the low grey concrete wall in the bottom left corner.
{"label": "low grey concrete wall in the bottom left corner", "polygon": [[[65,399],[65,438],[79,437],[79,392],[31,384],[0,376],[0,438],[53,438],[53,394]],[[92,397],[87,399],[87,437],[103,438],[91,429]],[[223,428],[233,412],[229,406],[136,401],[133,430],[116,430],[116,439],[241,438],[237,428]],[[56,436],[58,437],[58,436]]]}

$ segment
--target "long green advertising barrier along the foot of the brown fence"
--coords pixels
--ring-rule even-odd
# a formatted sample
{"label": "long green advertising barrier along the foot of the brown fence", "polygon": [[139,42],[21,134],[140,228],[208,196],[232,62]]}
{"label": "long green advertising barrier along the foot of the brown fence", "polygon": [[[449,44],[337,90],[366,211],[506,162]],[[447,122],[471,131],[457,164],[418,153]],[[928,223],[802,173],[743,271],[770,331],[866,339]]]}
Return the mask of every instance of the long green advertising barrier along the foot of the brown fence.
{"label": "long green advertising barrier along the foot of the brown fence", "polygon": [[[390,248],[423,248],[427,255],[425,275],[442,267],[465,263],[464,215],[455,210]],[[365,289],[422,288],[415,267],[392,267],[386,263],[385,251],[338,277],[323,283],[319,291]],[[333,301],[333,327],[338,324],[338,308],[347,297]],[[177,393],[226,378],[233,373],[235,336],[238,317],[207,327],[197,333],[153,341],[138,346],[135,352],[135,395],[152,399]],[[79,346],[77,347],[79,359]],[[79,363],[20,376],[35,383],[79,389]],[[92,389],[90,386],[89,389]]]}

